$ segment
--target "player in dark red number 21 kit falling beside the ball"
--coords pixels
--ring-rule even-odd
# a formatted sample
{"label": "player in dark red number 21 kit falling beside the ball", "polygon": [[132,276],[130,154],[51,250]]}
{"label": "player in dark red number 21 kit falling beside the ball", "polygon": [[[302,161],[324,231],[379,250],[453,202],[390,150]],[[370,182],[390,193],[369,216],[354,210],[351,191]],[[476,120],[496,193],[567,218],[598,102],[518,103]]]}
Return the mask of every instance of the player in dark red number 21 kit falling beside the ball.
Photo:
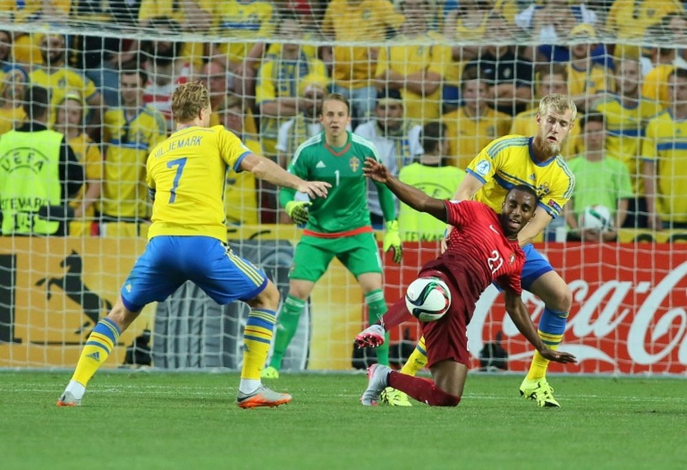
{"label": "player in dark red number 21 kit falling beside the ball", "polygon": [[[368,388],[361,396],[363,405],[376,405],[387,386],[402,390],[430,406],[455,406],[460,403],[468,372],[466,328],[475,302],[488,285],[495,281],[505,292],[506,311],[515,326],[537,351],[550,361],[574,362],[569,353],[547,348],[532,324],[521,300],[520,272],[525,254],[517,240],[537,208],[537,194],[528,186],[515,186],[496,214],[477,201],[444,201],[401,183],[387,168],[366,159],[365,175],[384,183],[396,197],[420,212],[453,225],[448,249],[436,260],[420,269],[419,277],[434,276],[446,282],[451,291],[451,307],[436,322],[420,322],[427,344],[427,366],[433,381],[412,377],[373,364],[368,370]],[[384,326],[372,325],[356,337],[358,346],[377,346],[383,342],[384,329],[405,320],[409,315],[405,300],[398,300],[384,315]]]}

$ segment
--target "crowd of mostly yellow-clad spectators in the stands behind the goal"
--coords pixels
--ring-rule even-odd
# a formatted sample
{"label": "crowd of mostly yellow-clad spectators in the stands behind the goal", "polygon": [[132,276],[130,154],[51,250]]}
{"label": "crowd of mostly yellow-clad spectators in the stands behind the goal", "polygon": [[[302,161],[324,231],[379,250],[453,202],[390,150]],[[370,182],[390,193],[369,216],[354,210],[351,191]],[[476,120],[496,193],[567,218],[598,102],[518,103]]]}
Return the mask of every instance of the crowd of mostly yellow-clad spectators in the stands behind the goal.
{"label": "crowd of mostly yellow-clad spectators in the stands behind the goal", "polygon": [[[396,174],[420,161],[429,122],[445,128],[442,161],[465,168],[496,137],[532,135],[539,98],[569,93],[578,125],[563,157],[584,153],[580,120],[601,122],[603,157],[624,164],[605,174],[629,175],[616,223],[686,229],[684,45],[677,0],[0,0],[0,135],[30,119],[28,91],[46,89],[47,126],[85,167],[70,234],[137,236],[146,157],[174,130],[170,96],[188,80],[210,90],[212,125],[282,166],[320,131],[326,93],[342,93],[351,129],[379,141]],[[288,221],[275,188],[227,183],[228,223]]]}

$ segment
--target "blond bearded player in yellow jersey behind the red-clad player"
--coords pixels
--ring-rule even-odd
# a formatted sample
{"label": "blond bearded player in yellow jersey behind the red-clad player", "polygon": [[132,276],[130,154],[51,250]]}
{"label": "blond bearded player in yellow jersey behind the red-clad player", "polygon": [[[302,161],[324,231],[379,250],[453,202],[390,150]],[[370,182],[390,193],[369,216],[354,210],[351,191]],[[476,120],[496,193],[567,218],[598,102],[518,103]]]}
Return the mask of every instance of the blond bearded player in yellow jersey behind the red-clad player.
{"label": "blond bearded player in yellow jersey behind the red-clad player", "polygon": [[[554,217],[561,215],[563,205],[572,195],[575,179],[560,154],[576,113],[570,96],[553,93],[542,98],[537,114],[537,135],[506,135],[488,144],[469,164],[467,175],[453,197],[458,201],[474,199],[499,212],[510,188],[526,184],[537,192],[539,205],[534,217],[518,234],[526,254],[521,279],[523,288],[545,303],[538,333],[544,344],[552,349],[558,348],[563,339],[572,292],[530,242]],[[443,242],[442,249],[445,249]],[[426,363],[427,353],[420,339],[402,372],[415,374]],[[559,407],[553,388],[546,380],[548,363],[538,352],[534,353],[527,377],[520,385],[520,394],[539,406]],[[394,392],[389,401],[400,401],[397,395],[398,392]]]}

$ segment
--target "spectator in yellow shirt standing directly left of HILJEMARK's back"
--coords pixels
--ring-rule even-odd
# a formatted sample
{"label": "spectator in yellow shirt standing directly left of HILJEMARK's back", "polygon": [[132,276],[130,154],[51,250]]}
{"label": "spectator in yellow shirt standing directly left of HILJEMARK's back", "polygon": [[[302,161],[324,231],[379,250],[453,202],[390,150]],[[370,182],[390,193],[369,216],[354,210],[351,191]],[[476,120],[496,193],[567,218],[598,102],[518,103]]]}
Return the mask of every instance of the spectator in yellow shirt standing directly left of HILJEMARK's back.
{"label": "spectator in yellow shirt standing directly left of HILJEMARK's back", "polygon": [[104,236],[138,236],[139,224],[150,216],[145,161],[150,150],[167,137],[167,124],[159,111],[144,104],[145,83],[144,70],[135,64],[122,66],[122,107],[105,113],[100,209]]}

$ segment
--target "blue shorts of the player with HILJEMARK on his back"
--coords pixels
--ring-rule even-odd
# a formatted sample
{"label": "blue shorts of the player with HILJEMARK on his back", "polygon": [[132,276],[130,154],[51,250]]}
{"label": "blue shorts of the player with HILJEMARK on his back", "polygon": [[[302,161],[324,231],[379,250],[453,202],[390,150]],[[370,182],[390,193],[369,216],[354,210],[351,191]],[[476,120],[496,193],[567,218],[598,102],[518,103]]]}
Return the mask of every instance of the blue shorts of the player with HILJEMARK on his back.
{"label": "blue shorts of the player with HILJEMARK on his back", "polygon": [[187,280],[218,304],[252,300],[267,286],[261,269],[216,238],[156,236],[126,278],[122,301],[137,312],[150,302],[162,302]]}

